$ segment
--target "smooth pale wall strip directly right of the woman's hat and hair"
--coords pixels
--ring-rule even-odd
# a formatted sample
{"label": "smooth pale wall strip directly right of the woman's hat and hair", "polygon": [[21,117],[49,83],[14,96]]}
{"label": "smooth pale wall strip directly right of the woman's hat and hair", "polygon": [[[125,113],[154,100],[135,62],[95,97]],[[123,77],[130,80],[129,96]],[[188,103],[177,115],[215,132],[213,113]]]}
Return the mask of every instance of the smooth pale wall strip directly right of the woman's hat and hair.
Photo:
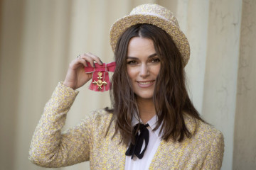
{"label": "smooth pale wall strip directly right of the woman's hat and hair", "polygon": [[191,59],[186,66],[188,94],[202,114],[203,86],[206,70],[209,1],[188,1],[187,37],[191,46]]}

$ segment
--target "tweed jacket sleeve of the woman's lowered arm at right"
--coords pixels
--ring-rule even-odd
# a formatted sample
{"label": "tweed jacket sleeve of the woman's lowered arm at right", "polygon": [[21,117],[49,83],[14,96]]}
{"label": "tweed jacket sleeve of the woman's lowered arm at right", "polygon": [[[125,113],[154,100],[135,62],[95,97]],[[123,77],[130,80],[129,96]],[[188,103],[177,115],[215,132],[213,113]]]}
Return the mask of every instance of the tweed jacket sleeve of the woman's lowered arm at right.
{"label": "tweed jacket sleeve of the woman's lowered arm at right", "polygon": [[206,159],[203,162],[202,169],[220,169],[223,162],[224,153],[224,138],[223,134],[218,131],[215,139],[213,140],[210,151],[208,152]]}

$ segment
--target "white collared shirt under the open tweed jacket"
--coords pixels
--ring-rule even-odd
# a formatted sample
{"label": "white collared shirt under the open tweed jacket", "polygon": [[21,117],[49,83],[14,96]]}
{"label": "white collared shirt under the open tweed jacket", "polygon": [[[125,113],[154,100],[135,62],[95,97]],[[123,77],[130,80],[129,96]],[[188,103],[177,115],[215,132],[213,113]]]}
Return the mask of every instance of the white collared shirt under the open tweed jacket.
{"label": "white collared shirt under the open tweed jacket", "polygon": [[[135,126],[137,123],[139,123],[139,120],[133,117],[132,126]],[[156,115],[154,115],[154,117],[151,118],[151,120],[149,120],[147,123],[149,124],[149,126],[147,127],[149,130],[149,144],[146,147],[144,156],[142,157],[142,159],[137,158],[135,155],[133,159],[131,159],[131,156],[126,156],[125,167],[124,167],[125,170],[149,169],[149,166],[154,157],[154,154],[156,153],[156,150],[159,147],[161,142],[161,134],[159,134],[161,125],[156,131],[153,132],[153,129],[156,127],[156,123],[157,123]],[[145,147],[144,143],[145,141],[143,142],[142,150]]]}

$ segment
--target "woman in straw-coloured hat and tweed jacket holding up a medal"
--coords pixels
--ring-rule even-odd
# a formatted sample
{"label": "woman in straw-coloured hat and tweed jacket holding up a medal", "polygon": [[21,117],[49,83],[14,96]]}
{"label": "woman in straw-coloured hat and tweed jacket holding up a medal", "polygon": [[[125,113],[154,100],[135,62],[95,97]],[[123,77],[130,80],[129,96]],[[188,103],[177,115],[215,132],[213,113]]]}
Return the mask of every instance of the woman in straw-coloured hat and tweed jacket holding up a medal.
{"label": "woman in straw-coloured hat and tweed jacket holding up a medal", "polygon": [[46,104],[29,159],[46,167],[90,160],[91,169],[220,169],[223,135],[188,98],[189,45],[173,14],[156,4],[137,6],[114,23],[110,43],[112,109],[61,134],[75,89],[92,78],[84,67],[102,65],[95,55],[80,55]]}

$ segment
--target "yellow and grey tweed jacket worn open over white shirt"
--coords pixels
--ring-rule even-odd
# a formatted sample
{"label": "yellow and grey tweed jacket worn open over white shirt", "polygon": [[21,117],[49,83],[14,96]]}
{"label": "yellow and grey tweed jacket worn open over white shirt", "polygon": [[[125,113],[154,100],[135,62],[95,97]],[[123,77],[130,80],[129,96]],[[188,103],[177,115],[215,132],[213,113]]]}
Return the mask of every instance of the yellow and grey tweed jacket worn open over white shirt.
{"label": "yellow and grey tweed jacket worn open over white shirt", "polygon": [[[29,159],[45,167],[90,161],[90,169],[124,169],[127,147],[119,143],[118,133],[112,138],[114,125],[110,125],[105,135],[111,113],[95,111],[80,124],[61,132],[77,94],[78,91],[58,84],[33,134]],[[162,140],[149,169],[220,169],[224,151],[222,133],[187,115],[185,123],[193,137],[183,142]]]}

